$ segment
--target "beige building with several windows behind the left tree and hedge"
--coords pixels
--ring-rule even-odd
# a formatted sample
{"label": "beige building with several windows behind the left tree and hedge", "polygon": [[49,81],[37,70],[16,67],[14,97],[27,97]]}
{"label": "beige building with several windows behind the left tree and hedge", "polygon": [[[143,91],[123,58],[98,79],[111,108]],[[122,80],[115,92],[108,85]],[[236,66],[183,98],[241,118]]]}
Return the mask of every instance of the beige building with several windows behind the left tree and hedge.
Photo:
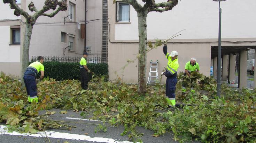
{"label": "beige building with several windows behind the left tree and hedge", "polygon": [[[31,1],[37,9],[44,6],[44,0],[17,0],[17,4],[29,14],[33,14],[28,9]],[[63,1],[67,3],[68,10],[60,11],[53,18],[40,16],[36,21],[31,36],[29,59],[39,55],[81,57],[85,47],[91,56],[100,58],[102,0]],[[0,9],[0,71],[20,77],[25,19],[22,16],[15,16],[14,10],[2,1]],[[47,13],[50,12],[52,11]],[[86,24],[85,30],[81,30],[84,24]]]}

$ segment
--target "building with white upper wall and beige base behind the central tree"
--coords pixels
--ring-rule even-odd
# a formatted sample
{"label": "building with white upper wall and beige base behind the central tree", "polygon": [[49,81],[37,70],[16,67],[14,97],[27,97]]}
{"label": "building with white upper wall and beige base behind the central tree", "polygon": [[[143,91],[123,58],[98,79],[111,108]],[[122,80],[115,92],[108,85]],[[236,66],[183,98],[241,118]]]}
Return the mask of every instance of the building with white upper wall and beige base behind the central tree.
{"label": "building with white upper wall and beige base behind the central tree", "polygon": [[[109,79],[121,78],[124,82],[138,82],[138,60],[130,63],[138,54],[138,18],[137,13],[128,3],[116,0],[108,3],[108,21],[110,23],[108,42]],[[141,5],[143,2],[138,0]],[[155,0],[165,2],[166,0]],[[240,54],[239,87],[246,87],[247,50],[256,47],[256,3],[254,0],[227,0],[222,7],[222,80],[235,80],[235,54]],[[181,0],[171,11],[150,12],[147,16],[148,41],[168,39],[180,30],[186,29],[168,42],[168,52],[178,51],[179,69],[184,71],[185,63],[192,57],[200,64],[200,72],[210,75],[210,66],[217,76],[217,47],[219,5],[212,0]],[[158,75],[161,74],[167,60],[163,47],[158,47],[147,54],[147,77],[150,60],[158,60]],[[228,74],[230,73],[230,74]],[[165,77],[162,79],[165,83]]]}

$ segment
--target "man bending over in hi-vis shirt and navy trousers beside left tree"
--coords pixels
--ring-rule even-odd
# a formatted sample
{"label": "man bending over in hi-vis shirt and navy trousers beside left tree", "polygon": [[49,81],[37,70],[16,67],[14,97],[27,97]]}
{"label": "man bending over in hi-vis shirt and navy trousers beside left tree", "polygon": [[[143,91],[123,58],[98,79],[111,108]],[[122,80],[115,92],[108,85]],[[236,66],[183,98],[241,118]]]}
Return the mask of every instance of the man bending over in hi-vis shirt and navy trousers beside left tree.
{"label": "man bending over in hi-vis shirt and navy trousers beside left tree", "polygon": [[38,102],[36,76],[41,72],[39,80],[44,78],[44,57],[38,56],[37,61],[31,63],[24,72],[24,84],[28,93],[29,102]]}

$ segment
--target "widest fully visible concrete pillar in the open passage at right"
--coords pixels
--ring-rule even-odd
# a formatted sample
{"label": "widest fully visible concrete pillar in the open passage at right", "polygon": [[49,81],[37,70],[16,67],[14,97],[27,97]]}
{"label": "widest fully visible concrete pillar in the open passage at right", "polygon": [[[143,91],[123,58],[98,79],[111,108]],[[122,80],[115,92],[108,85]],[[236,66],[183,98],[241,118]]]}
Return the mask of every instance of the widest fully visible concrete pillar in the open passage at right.
{"label": "widest fully visible concrete pillar in the open passage at right", "polygon": [[239,55],[240,67],[239,67],[239,81],[238,87],[240,89],[247,88],[247,51],[241,50]]}

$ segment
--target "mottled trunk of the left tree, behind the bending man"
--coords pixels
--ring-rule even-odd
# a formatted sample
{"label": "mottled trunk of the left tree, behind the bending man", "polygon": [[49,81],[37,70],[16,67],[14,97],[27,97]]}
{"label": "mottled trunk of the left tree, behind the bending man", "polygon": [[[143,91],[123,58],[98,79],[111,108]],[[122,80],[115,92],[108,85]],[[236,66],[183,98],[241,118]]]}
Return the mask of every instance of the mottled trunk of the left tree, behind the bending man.
{"label": "mottled trunk of the left tree, behind the bending man", "polygon": [[23,75],[26,68],[29,66],[29,45],[30,45],[32,29],[33,29],[33,25],[26,23],[26,28],[24,32],[24,38],[23,38],[22,61],[21,61],[22,87],[24,87]]}

